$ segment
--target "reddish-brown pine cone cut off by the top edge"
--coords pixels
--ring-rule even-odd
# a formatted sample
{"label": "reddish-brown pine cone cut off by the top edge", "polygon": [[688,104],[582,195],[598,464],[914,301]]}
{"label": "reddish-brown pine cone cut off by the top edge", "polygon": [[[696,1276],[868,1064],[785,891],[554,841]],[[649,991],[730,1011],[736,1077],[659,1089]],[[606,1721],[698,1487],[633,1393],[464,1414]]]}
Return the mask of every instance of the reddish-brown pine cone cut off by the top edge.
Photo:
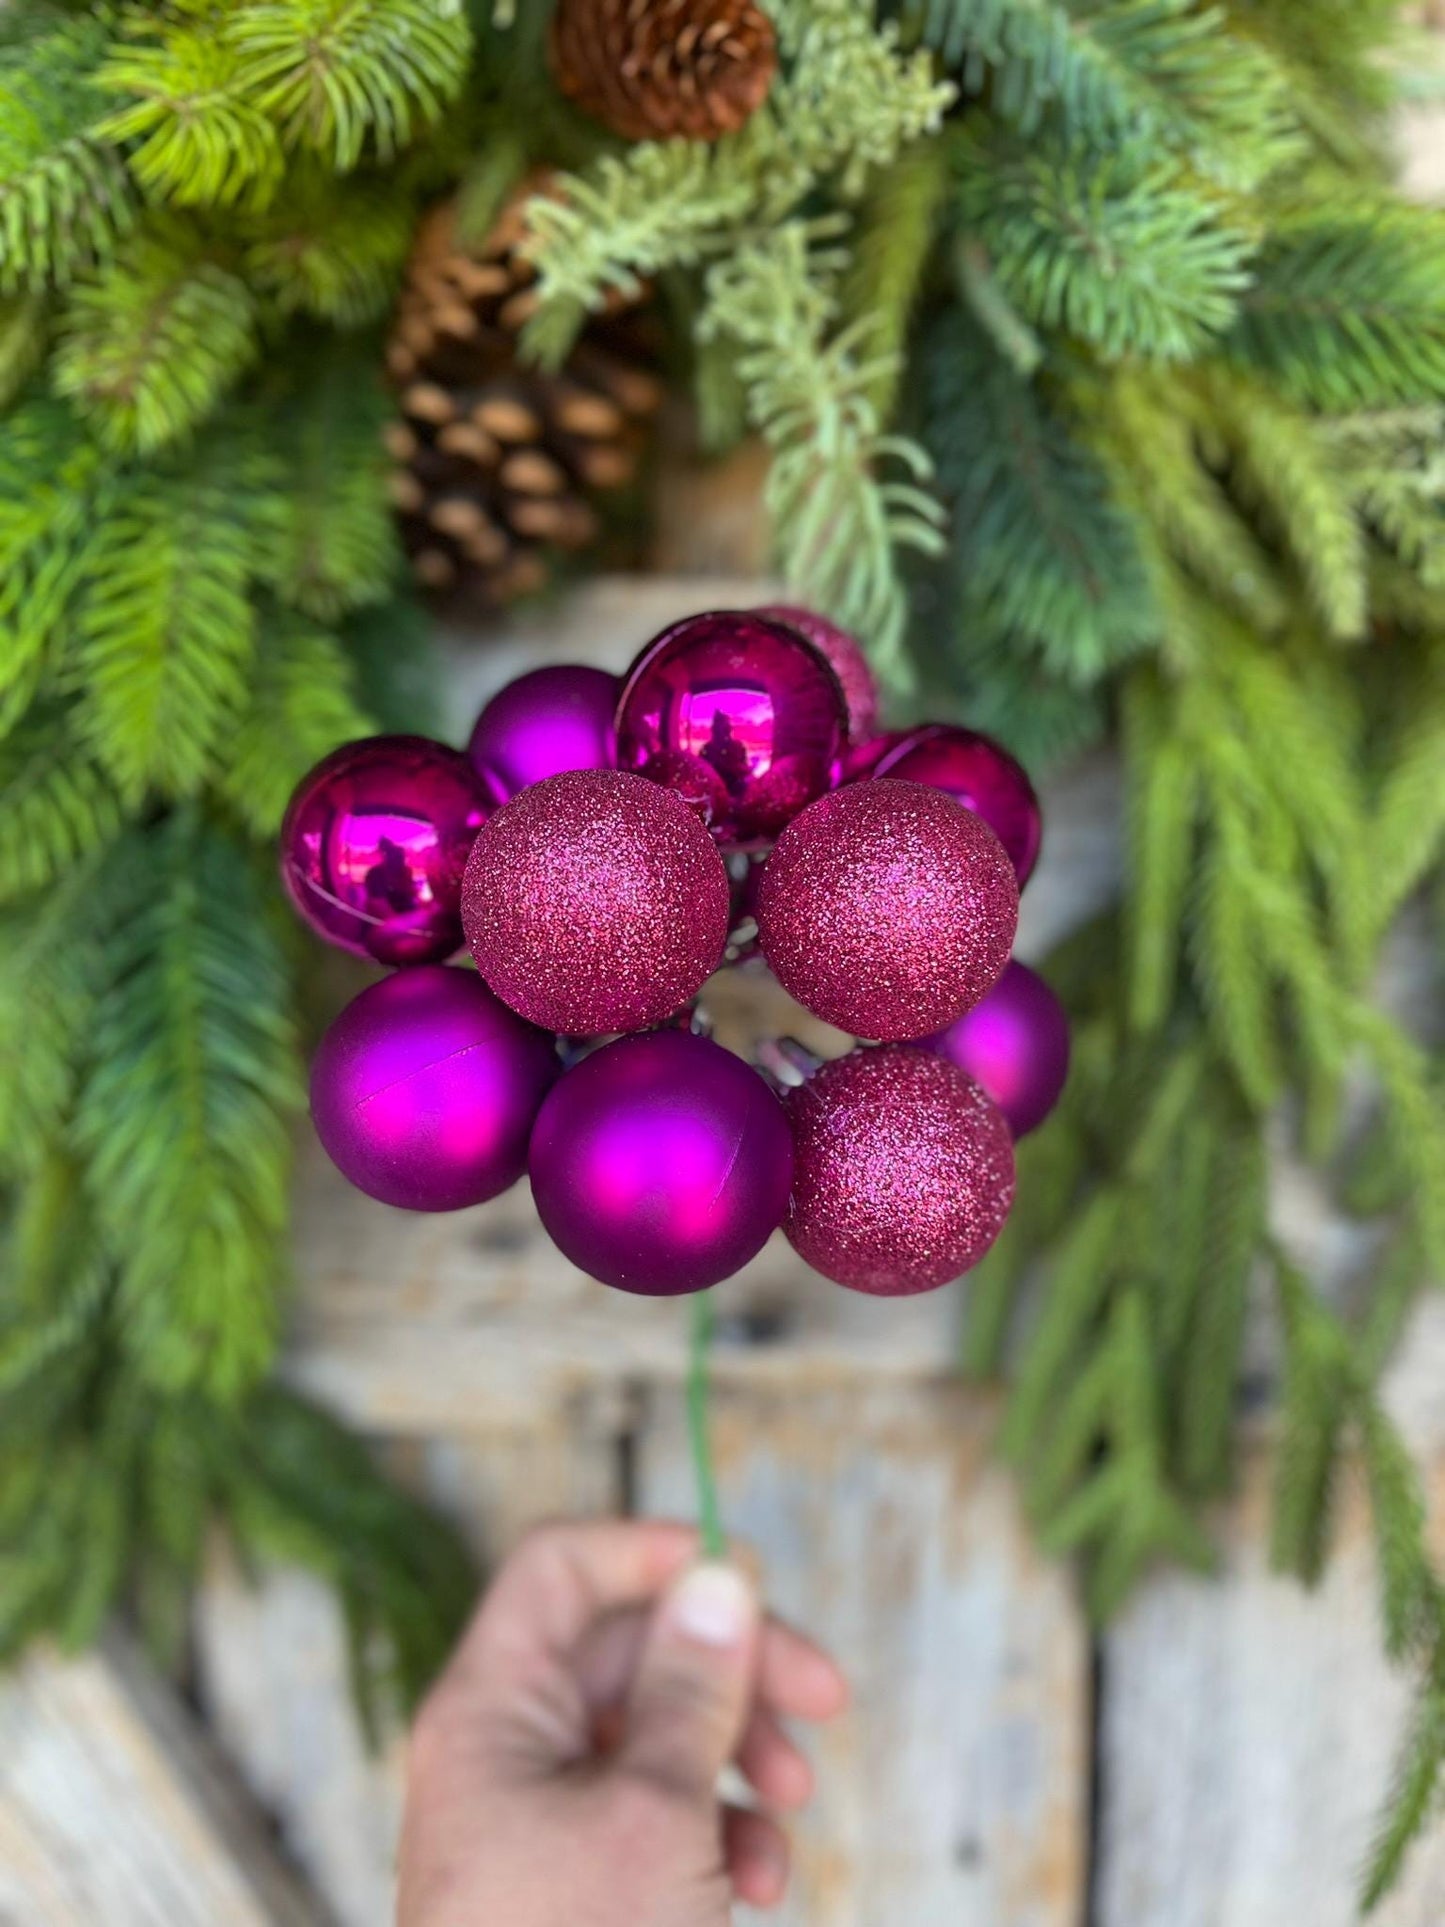
{"label": "reddish-brown pine cone cut off by the top edge", "polygon": [[767,98],[778,40],[753,0],[557,0],[551,66],[624,141],[717,141]]}

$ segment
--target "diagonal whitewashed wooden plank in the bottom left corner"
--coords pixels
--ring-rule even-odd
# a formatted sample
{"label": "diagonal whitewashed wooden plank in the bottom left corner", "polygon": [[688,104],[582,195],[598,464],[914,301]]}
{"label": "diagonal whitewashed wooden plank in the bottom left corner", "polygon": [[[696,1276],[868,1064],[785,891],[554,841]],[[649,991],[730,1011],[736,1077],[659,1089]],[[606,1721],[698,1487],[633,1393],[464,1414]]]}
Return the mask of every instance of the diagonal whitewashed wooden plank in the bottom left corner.
{"label": "diagonal whitewashed wooden plank in the bottom left corner", "polygon": [[185,1707],[123,1646],[0,1686],[0,1921],[322,1927]]}

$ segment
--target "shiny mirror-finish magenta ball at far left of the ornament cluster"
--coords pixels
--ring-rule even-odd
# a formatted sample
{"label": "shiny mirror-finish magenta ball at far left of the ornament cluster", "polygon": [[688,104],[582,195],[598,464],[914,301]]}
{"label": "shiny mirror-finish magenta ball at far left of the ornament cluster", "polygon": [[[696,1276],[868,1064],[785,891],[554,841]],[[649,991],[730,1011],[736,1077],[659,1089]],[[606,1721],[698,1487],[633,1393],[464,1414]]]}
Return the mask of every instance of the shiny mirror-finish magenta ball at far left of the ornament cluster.
{"label": "shiny mirror-finish magenta ball at far left of the ornament cluster", "polygon": [[366,736],[297,784],[281,877],[314,931],[378,964],[462,942],[462,871],[487,815],[472,765],[426,736]]}

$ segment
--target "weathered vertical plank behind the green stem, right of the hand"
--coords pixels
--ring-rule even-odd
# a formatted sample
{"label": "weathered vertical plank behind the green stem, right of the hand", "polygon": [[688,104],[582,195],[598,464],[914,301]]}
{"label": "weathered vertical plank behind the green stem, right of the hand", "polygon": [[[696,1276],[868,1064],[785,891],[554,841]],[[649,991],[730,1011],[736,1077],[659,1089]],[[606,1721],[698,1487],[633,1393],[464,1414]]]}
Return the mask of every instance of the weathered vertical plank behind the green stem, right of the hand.
{"label": "weathered vertical plank behind the green stem, right of the hand", "polygon": [[[990,1461],[986,1405],[925,1384],[715,1405],[728,1528],[755,1547],[769,1601],[854,1684],[815,1748],[794,1892],[767,1919],[1075,1927],[1089,1642]],[[640,1505],[688,1517],[678,1401],[649,1412]]]}

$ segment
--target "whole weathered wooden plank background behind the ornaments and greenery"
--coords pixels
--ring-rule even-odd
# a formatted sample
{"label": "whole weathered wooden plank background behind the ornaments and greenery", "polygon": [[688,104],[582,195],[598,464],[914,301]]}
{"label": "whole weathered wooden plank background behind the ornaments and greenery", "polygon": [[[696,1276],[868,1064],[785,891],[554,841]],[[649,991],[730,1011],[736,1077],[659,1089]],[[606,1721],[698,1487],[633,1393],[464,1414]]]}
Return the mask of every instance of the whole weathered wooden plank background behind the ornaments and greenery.
{"label": "whole weathered wooden plank background behind the ornaments and greenery", "polygon": [[[746,594],[601,582],[501,644],[457,644],[455,732],[524,663],[620,665],[669,617]],[[1077,769],[1048,805],[1023,954],[1116,884],[1108,763]],[[1401,971],[1414,975],[1408,952]],[[776,1002],[724,1002],[732,1037],[788,1021]],[[1277,1214],[1312,1262],[1349,1260],[1343,1227],[1287,1166]],[[297,1239],[287,1370],[486,1557],[559,1511],[690,1511],[682,1312],[574,1272],[524,1185],[408,1218],[308,1150]],[[1304,1596],[1268,1572],[1264,1457],[1250,1455],[1218,1520],[1218,1578],[1160,1574],[1096,1642],[990,1455],[992,1401],[952,1382],[963,1289],[875,1303],[778,1239],[719,1291],[730,1528],[855,1684],[819,1744],[784,1921],[1347,1927],[1408,1703],[1379,1655],[1358,1497],[1326,1584]],[[1443,1372],[1445,1316],[1430,1305],[1391,1399],[1441,1493]],[[35,1661],[0,1692],[0,1923],[389,1921],[405,1742],[366,1752],[329,1597],[293,1572],[254,1588],[218,1549],[195,1650],[195,1707],[114,1648]],[[1445,1835],[1379,1919],[1445,1921]]]}

